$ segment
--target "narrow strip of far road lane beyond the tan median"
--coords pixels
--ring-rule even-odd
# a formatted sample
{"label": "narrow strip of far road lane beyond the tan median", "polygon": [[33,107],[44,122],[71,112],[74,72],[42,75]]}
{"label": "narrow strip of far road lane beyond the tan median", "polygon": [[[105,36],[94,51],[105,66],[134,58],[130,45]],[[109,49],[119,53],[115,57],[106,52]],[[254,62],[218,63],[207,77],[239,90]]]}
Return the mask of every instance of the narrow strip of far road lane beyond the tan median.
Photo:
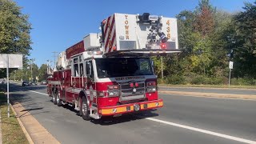
{"label": "narrow strip of far road lane beyond the tan median", "polygon": [[194,88],[194,87],[166,87],[159,86],[159,90],[198,92],[198,93],[216,93],[216,94],[246,94],[256,95],[256,90],[253,89],[214,89],[214,88]]}

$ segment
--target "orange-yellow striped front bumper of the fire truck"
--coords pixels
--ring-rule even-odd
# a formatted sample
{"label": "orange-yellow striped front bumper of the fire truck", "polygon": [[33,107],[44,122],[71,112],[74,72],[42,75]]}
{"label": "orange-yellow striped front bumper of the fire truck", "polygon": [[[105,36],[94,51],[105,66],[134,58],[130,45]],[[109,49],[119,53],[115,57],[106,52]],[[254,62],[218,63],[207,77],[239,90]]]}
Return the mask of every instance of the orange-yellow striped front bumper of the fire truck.
{"label": "orange-yellow striped front bumper of the fire truck", "polygon": [[[139,106],[139,110],[134,110],[134,106]],[[134,111],[156,109],[162,106],[163,106],[162,99],[158,99],[154,101],[136,102],[136,103],[130,103],[125,105],[102,107],[101,109],[98,110],[98,112],[102,116],[108,116],[108,115],[132,113]]]}

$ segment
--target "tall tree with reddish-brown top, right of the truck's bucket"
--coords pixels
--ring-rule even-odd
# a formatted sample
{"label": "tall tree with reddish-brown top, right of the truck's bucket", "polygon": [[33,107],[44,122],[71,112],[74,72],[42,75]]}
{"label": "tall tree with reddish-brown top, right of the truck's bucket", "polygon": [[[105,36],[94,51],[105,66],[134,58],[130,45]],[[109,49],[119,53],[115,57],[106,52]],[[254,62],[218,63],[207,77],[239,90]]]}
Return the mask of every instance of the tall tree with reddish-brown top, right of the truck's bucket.
{"label": "tall tree with reddish-brown top, right of the truck's bucket", "polygon": [[214,31],[214,6],[208,0],[199,2],[194,11],[183,10],[177,15],[178,38],[183,54],[178,58],[186,71],[206,75],[212,59],[211,33]]}

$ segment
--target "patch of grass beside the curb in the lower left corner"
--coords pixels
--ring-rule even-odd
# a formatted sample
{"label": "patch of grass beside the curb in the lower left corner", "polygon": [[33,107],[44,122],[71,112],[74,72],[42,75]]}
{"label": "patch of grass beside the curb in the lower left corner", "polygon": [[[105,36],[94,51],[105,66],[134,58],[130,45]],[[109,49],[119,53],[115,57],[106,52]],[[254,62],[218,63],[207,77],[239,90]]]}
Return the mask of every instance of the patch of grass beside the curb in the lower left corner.
{"label": "patch of grass beside the curb in the lower left corner", "polygon": [[7,118],[6,96],[0,92],[0,109],[2,123],[2,143],[9,144],[25,144],[29,143],[21,126],[18,123],[14,112],[10,109],[10,118]]}

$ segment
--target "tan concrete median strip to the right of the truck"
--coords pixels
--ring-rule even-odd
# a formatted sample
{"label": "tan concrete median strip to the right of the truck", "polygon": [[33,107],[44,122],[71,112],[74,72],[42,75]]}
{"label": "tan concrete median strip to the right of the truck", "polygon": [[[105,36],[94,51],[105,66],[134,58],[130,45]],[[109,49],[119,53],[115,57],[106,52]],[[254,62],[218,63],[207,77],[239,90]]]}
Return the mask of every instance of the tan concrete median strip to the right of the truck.
{"label": "tan concrete median strip to the right of the truck", "polygon": [[159,90],[159,94],[177,94],[186,95],[194,97],[208,97],[208,98],[239,98],[246,100],[256,100],[256,95],[246,95],[246,94],[216,94],[216,93],[201,93],[201,92],[184,92],[184,91],[174,91],[174,90]]}

